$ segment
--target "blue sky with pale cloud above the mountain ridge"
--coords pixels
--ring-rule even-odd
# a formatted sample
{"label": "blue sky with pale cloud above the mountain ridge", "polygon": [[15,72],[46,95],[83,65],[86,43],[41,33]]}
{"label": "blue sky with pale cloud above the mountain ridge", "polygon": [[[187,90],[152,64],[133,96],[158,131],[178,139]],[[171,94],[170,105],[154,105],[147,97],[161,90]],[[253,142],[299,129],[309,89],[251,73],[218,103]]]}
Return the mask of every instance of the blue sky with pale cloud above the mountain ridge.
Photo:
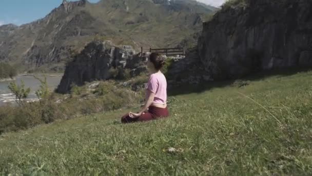
{"label": "blue sky with pale cloud above the mountain ridge", "polygon": [[[99,0],[88,1],[96,3]],[[224,2],[224,0],[198,1],[213,6],[220,6]],[[62,2],[63,0],[0,0],[0,26],[8,23],[21,25],[41,19]]]}

